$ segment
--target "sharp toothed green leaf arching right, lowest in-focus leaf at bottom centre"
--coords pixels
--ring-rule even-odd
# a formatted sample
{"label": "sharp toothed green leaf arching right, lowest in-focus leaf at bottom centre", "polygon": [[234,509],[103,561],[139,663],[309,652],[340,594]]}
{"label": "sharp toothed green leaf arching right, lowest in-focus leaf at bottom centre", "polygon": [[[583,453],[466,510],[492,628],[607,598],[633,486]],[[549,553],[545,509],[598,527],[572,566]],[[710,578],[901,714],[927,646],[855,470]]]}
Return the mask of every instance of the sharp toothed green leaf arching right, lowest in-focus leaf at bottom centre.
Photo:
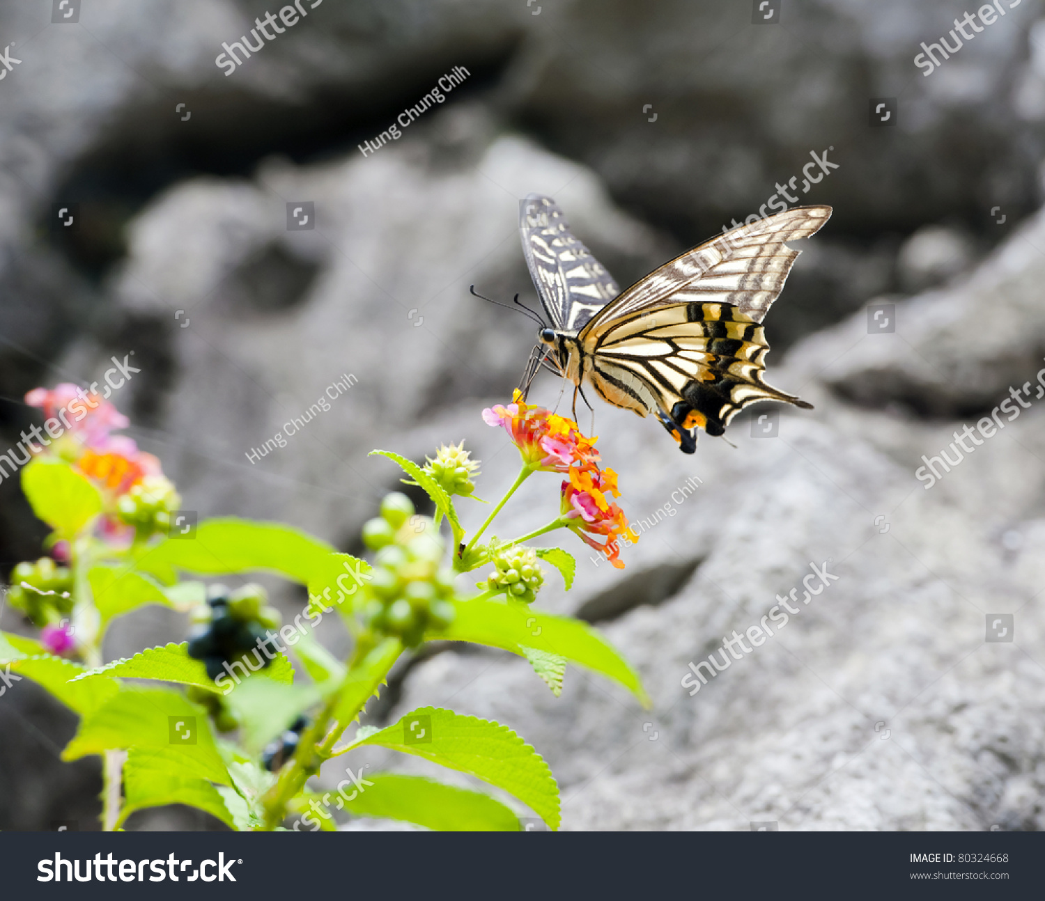
{"label": "sharp toothed green leaf arching right, lowest in-focus leaf at bottom centre", "polygon": [[533,748],[500,722],[421,707],[351,746],[363,744],[391,748],[475,776],[514,795],[552,829],[559,828],[559,786],[552,770]]}

